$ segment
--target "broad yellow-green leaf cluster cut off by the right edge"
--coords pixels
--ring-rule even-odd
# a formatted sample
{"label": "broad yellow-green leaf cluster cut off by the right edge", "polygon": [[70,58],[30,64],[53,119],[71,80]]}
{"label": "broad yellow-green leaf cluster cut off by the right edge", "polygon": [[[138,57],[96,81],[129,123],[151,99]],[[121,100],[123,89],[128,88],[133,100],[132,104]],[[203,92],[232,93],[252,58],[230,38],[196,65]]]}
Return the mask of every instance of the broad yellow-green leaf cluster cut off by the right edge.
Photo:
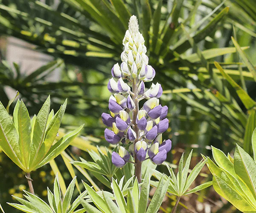
{"label": "broad yellow-green leaf cluster cut off by the right edge", "polygon": [[[252,137],[255,156],[256,131]],[[256,161],[239,145],[234,158],[212,147],[216,164],[207,157],[207,166],[213,175],[213,187],[222,197],[242,212],[256,212]],[[204,157],[205,158],[205,157]]]}

